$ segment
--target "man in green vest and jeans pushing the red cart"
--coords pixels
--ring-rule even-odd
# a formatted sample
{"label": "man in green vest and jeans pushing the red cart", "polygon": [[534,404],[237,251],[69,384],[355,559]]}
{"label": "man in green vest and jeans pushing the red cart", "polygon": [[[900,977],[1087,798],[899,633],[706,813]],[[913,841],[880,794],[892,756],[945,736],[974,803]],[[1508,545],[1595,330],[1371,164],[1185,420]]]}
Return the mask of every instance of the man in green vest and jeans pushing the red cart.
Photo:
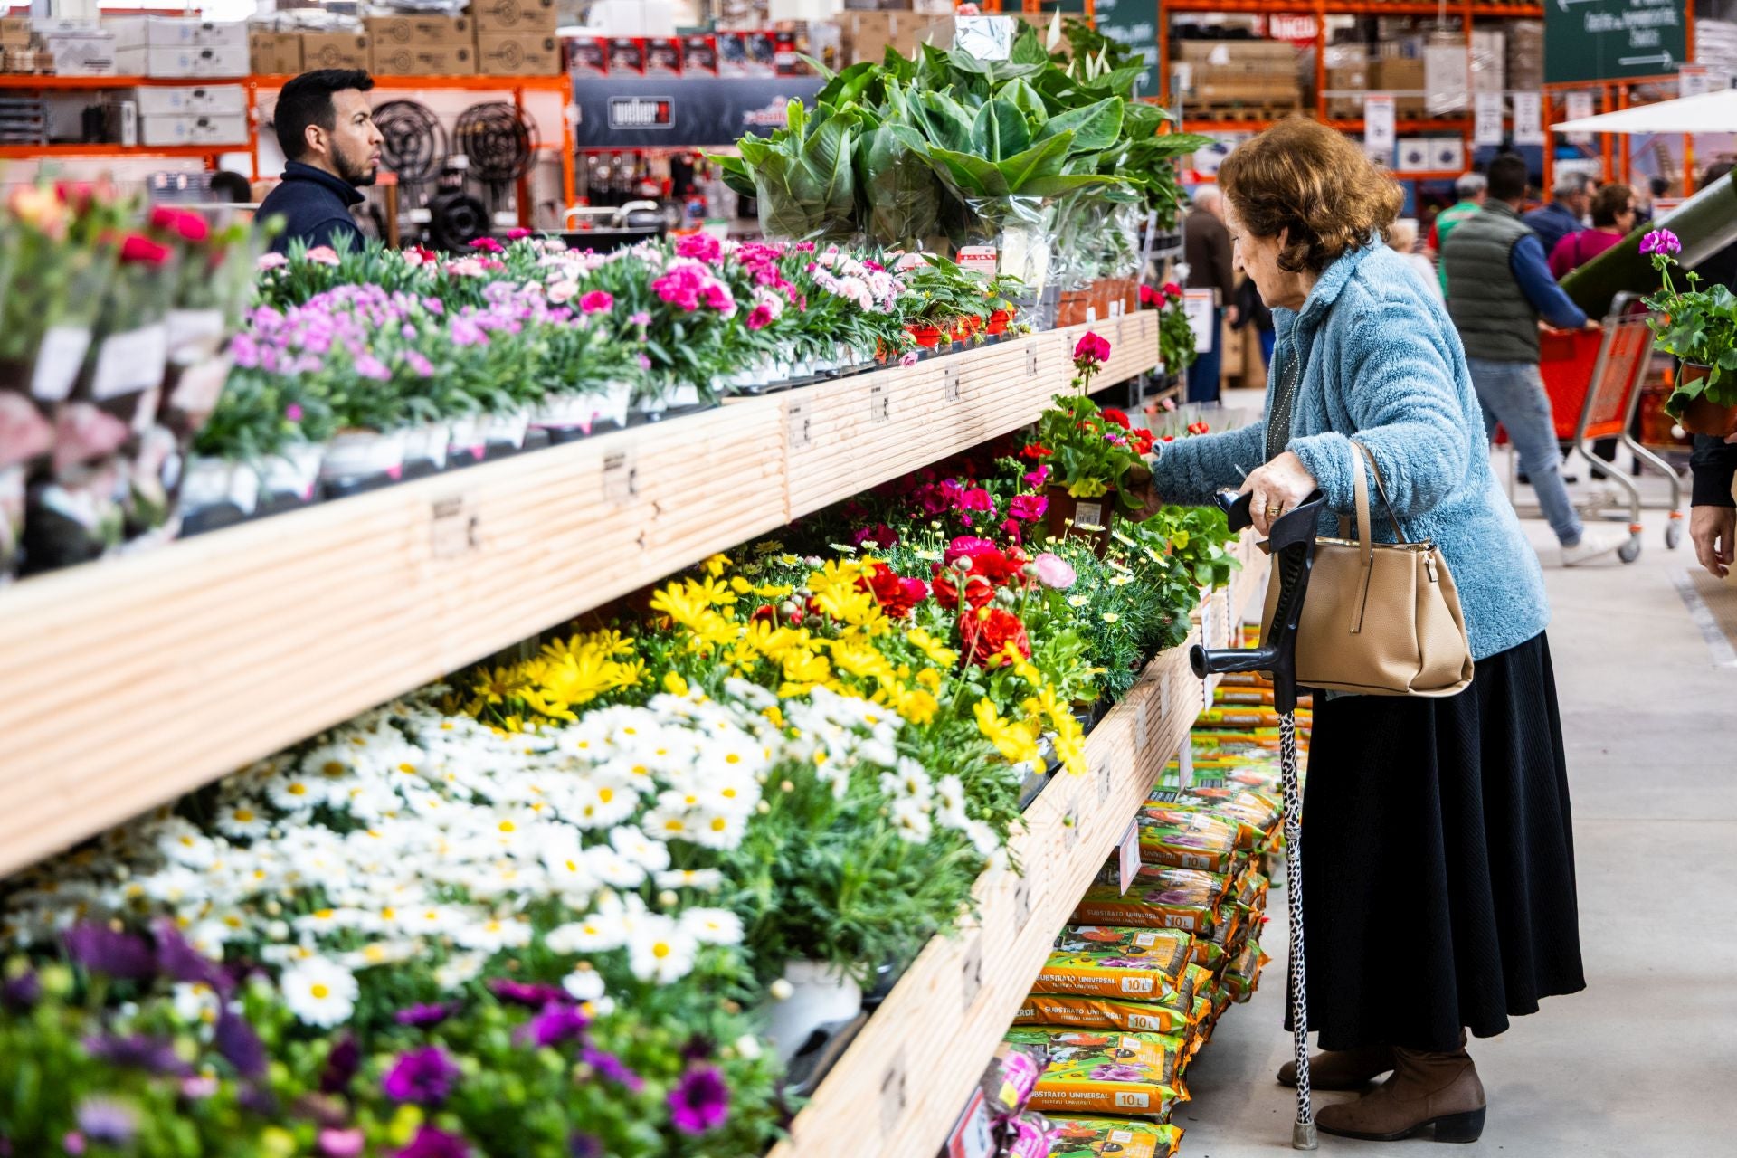
{"label": "man in green vest and jeans pushing the red cart", "polygon": [[1544,247],[1520,220],[1525,203],[1525,160],[1504,153],[1490,161],[1489,200],[1454,226],[1442,248],[1447,269],[1447,313],[1466,347],[1471,389],[1483,405],[1483,427],[1501,422],[1530,476],[1549,530],[1562,543],[1562,566],[1572,568],[1614,552],[1628,542],[1621,528],[1582,526],[1562,477],[1562,451],[1549,394],[1537,370],[1539,319],[1558,330],[1596,330],[1544,264]]}

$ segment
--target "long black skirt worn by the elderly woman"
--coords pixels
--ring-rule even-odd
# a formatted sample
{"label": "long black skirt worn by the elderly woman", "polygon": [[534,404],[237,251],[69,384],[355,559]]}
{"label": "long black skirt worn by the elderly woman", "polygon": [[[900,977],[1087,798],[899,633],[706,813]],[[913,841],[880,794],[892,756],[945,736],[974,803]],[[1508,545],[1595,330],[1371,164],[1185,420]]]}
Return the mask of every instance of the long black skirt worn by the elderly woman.
{"label": "long black skirt worn by the elderly woman", "polygon": [[[1308,1017],[1329,1050],[1450,1050],[1586,988],[1549,644],[1445,700],[1315,698]],[[1289,1016],[1287,1016],[1289,1021]]]}

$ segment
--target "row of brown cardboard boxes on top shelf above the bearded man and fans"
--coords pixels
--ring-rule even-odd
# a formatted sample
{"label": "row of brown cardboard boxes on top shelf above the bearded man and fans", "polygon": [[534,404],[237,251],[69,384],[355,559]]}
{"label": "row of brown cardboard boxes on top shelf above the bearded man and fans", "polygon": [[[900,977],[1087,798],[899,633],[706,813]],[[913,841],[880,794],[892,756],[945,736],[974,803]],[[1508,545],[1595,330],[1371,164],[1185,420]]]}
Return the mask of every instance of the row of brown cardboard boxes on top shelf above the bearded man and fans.
{"label": "row of brown cardboard boxes on top shelf above the bearded man and fans", "polygon": [[466,16],[370,16],[358,33],[254,24],[255,73],[365,68],[377,76],[551,76],[561,71],[554,0],[474,0]]}

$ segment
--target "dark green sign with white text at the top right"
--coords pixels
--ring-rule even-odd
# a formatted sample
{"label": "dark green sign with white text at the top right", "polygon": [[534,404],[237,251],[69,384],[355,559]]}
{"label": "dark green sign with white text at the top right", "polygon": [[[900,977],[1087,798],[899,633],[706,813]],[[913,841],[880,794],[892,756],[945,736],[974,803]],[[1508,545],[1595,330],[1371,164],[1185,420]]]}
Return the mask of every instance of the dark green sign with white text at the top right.
{"label": "dark green sign with white text at the top right", "polygon": [[1685,0],[1544,0],[1544,83],[1666,76],[1688,63]]}

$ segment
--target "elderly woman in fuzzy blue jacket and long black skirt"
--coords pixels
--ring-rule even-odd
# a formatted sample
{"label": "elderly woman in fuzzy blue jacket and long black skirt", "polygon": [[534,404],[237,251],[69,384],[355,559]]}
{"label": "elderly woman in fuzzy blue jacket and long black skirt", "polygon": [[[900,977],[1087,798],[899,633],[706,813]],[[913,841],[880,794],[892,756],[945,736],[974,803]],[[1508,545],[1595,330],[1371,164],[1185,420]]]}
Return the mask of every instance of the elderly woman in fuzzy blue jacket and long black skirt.
{"label": "elderly woman in fuzzy blue jacket and long black skirt", "polygon": [[1490,470],[1454,325],[1383,243],[1395,184],[1306,120],[1254,137],[1218,179],[1278,330],[1266,424],[1167,444],[1153,490],[1204,503],[1240,484],[1261,531],[1317,488],[1350,514],[1357,441],[1407,538],[1452,568],[1476,660],[1466,691],[1317,698],[1303,896],[1315,1087],[1393,1075],[1324,1106],[1320,1128],[1468,1142],[1485,1095],[1464,1030],[1503,1033],[1586,984],[1542,575]]}

